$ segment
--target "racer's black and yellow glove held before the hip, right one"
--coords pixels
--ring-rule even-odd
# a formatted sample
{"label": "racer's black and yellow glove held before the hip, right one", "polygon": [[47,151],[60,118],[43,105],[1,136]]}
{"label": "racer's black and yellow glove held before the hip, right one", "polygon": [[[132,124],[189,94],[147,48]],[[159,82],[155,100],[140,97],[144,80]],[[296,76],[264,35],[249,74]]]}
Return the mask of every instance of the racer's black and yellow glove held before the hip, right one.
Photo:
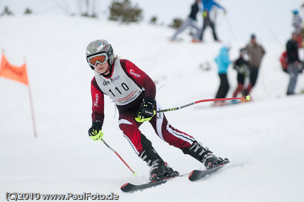
{"label": "racer's black and yellow glove held before the hip, right one", "polygon": [[145,97],[142,100],[139,110],[136,112],[137,122],[148,122],[156,114],[154,110],[155,101],[154,99]]}

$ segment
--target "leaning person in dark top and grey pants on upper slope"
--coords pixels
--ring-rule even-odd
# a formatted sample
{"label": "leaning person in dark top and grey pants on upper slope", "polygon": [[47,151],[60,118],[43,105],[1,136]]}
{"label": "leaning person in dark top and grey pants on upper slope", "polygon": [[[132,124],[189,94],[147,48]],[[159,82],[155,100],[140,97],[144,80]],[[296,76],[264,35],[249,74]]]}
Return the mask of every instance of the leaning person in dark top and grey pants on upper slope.
{"label": "leaning person in dark top and grey pants on upper slope", "polygon": [[196,0],[195,3],[191,6],[191,12],[190,15],[188,16],[188,18],[182,23],[182,25],[176,30],[176,32],[174,33],[174,35],[171,37],[171,41],[176,41],[176,36],[182,32],[183,30],[185,30],[188,26],[191,26],[193,28],[196,29],[196,33],[193,34],[193,39],[192,41],[197,41],[198,40],[198,33],[200,28],[197,26],[197,19],[196,19],[196,15],[199,12],[199,3],[201,2],[201,0]]}

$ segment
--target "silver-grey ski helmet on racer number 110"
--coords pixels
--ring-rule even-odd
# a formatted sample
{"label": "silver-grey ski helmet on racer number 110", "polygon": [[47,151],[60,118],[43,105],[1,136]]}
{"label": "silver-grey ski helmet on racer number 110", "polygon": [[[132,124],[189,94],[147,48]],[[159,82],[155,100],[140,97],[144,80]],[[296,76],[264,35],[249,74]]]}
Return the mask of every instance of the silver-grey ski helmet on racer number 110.
{"label": "silver-grey ski helmet on racer number 110", "polygon": [[[94,56],[94,55],[98,55],[100,53],[106,53],[106,55],[108,57],[108,60],[107,60],[108,63],[110,65],[113,64],[113,61],[114,61],[113,49],[112,49],[111,45],[104,39],[95,40],[87,46],[87,50],[86,50],[87,62],[90,64],[90,62],[88,61],[88,58],[91,56]],[[94,67],[91,64],[90,64],[90,67],[94,70]]]}

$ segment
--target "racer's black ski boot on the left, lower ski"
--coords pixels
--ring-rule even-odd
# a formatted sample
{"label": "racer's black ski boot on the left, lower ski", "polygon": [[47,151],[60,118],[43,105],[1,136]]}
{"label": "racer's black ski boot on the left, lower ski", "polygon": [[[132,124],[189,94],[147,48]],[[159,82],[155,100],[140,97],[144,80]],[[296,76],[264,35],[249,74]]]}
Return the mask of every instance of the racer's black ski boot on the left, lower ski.
{"label": "racer's black ski boot on the left, lower ski", "polygon": [[166,162],[161,159],[156,159],[151,163],[149,178],[151,182],[154,182],[158,179],[176,177],[178,175],[179,173],[177,171],[174,171],[168,166]]}

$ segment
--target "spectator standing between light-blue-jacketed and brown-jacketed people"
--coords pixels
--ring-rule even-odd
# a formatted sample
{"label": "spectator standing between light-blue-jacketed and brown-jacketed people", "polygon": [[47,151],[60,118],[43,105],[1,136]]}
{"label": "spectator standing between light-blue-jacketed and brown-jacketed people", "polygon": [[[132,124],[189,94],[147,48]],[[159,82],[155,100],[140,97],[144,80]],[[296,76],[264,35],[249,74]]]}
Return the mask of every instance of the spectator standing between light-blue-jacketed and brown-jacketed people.
{"label": "spectator standing between light-blue-jacketed and brown-jacketed people", "polygon": [[[245,49],[240,50],[239,58],[234,62],[233,68],[238,72],[238,87],[233,93],[233,97],[236,98],[238,93],[243,93],[245,78],[249,78],[249,64],[244,59],[244,54],[246,54]],[[234,102],[236,100],[232,100]]]}

